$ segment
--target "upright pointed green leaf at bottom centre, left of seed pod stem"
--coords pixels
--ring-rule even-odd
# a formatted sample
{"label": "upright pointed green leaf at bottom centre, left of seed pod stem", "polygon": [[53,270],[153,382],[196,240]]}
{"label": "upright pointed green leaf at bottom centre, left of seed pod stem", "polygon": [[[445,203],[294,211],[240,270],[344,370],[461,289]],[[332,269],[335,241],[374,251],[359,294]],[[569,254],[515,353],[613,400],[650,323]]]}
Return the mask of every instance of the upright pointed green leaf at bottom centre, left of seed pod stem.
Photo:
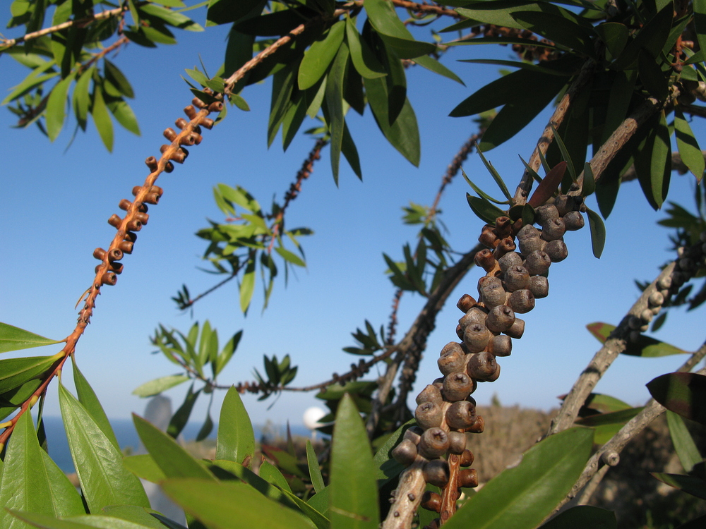
{"label": "upright pointed green leaf at bottom centre, left of seed pod stem", "polygon": [[337,529],[377,529],[376,468],[363,421],[349,394],[339,403],[333,439],[331,524]]}

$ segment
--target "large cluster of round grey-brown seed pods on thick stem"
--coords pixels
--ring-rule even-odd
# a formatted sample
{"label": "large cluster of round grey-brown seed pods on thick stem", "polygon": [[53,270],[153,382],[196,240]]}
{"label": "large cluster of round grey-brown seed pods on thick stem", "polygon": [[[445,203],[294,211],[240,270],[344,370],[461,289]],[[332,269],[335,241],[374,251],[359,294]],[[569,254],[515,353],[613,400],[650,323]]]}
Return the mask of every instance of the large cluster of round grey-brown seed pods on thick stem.
{"label": "large cluster of round grey-brown seed pods on thick stem", "polygon": [[[479,241],[489,248],[475,257],[486,271],[478,281],[479,298],[465,294],[458,301],[457,307],[464,312],[456,327],[460,342],[450,342],[441,350],[438,367],[443,376],[417,396],[417,426],[405,432],[392,452],[405,465],[422,461],[426,482],[447,487],[452,458],[459,466],[472,464],[466,432],[482,432],[484,421],[476,413],[471,394],[478,382],[493,382],[500,376],[496,358],[510,355],[512,339],[525,332],[525,322],[516,315],[530,312],[534,300],[549,293],[549,266],[568,255],[564,233],[585,224],[580,209],[581,197],[559,195],[535,210],[534,219],[541,229],[522,226],[521,219],[509,217],[498,217],[494,226],[484,226]],[[445,493],[455,501],[460,487],[477,484],[475,470],[460,470],[455,477],[457,488]],[[438,494],[426,493],[421,506],[440,512],[442,503]],[[437,519],[427,527],[438,525]]]}

